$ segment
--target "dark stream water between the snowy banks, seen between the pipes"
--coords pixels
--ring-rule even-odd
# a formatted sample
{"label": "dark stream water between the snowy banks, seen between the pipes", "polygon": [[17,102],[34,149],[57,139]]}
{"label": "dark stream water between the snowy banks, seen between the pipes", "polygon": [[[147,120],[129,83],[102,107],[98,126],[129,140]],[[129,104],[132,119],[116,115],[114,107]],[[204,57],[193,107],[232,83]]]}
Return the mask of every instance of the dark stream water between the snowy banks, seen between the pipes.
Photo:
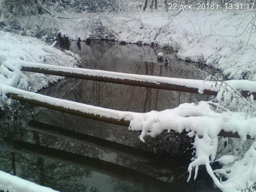
{"label": "dark stream water between the snowy banks, seen between the pipes", "polygon": [[[160,50],[150,46],[123,46],[109,41],[92,41],[90,44],[81,42],[80,47],[73,42],[69,49],[81,57],[80,67],[87,69],[205,78],[205,75],[184,61],[176,59],[173,53],[167,54],[168,65],[157,62],[156,55]],[[200,64],[192,65],[213,75],[216,73],[214,69]],[[61,80],[40,91],[40,94],[134,112],[160,111],[184,102],[208,100],[210,97],[71,78]],[[18,117],[19,109],[20,106],[17,106]],[[155,139],[146,138],[144,144],[138,139],[139,133],[129,132],[124,126],[42,107],[25,105],[22,110],[31,109],[34,114],[32,118],[37,122],[133,146],[148,151],[149,156],[116,153],[74,139],[28,131],[24,121],[29,117],[25,120],[19,117],[7,120],[9,123],[3,126],[5,131],[2,131],[2,137],[9,139],[5,139],[0,153],[0,170],[63,192],[217,191],[203,170],[196,182],[187,183],[189,161],[184,160],[187,157],[184,151],[187,151],[189,140],[185,136],[163,133]],[[155,155],[152,155],[153,152]]]}

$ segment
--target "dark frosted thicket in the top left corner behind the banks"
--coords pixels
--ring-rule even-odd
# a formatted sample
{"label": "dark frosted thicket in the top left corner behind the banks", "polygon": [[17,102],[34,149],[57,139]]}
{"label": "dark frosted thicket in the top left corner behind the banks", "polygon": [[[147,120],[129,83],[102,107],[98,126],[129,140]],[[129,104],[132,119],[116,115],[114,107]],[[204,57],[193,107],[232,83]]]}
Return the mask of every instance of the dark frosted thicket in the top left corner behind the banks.
{"label": "dark frosted thicket in the top left corner behind the banks", "polygon": [[[46,34],[48,32],[42,32],[43,22],[52,22],[51,26],[54,26],[55,18],[59,18],[58,12],[123,11],[122,2],[123,0],[0,0],[0,28],[8,26],[18,31],[32,29]],[[34,16],[42,14],[50,15],[52,19],[40,21],[42,24],[37,24],[37,28],[27,27],[32,25],[31,18],[35,19]]]}

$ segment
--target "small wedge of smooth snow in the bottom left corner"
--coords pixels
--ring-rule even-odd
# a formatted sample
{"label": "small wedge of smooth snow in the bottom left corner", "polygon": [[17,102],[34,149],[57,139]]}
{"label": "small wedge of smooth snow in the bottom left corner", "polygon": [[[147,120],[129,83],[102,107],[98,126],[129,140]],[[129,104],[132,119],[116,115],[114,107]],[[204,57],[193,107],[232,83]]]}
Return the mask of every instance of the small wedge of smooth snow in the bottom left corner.
{"label": "small wedge of smooth snow in the bottom left corner", "polygon": [[9,192],[57,192],[49,187],[37,185],[3,171],[0,171],[0,190],[8,190]]}

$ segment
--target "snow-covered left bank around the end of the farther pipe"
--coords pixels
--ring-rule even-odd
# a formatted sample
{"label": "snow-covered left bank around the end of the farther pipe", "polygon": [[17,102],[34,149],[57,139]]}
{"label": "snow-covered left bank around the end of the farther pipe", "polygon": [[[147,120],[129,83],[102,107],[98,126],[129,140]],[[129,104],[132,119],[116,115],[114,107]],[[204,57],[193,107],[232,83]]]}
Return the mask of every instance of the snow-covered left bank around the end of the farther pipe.
{"label": "snow-covered left bank around the end of the farther pipe", "polygon": [[[62,52],[45,42],[0,31],[0,83],[38,91],[62,77],[21,72],[15,64],[20,61],[74,67],[79,57],[72,52]],[[11,62],[15,60],[16,62]]]}

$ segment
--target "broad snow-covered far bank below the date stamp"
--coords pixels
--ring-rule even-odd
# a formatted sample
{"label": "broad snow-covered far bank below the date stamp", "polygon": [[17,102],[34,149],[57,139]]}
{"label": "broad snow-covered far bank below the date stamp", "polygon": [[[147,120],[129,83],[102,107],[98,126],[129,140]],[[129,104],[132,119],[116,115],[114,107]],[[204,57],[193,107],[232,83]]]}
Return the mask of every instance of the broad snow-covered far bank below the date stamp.
{"label": "broad snow-covered far bank below the date stamp", "polygon": [[256,33],[248,31],[253,11],[237,14],[227,10],[186,10],[174,18],[170,14],[81,14],[72,21],[58,22],[59,28],[73,39],[91,37],[176,46],[180,48],[177,54],[181,59],[203,62],[232,79],[256,80]]}

